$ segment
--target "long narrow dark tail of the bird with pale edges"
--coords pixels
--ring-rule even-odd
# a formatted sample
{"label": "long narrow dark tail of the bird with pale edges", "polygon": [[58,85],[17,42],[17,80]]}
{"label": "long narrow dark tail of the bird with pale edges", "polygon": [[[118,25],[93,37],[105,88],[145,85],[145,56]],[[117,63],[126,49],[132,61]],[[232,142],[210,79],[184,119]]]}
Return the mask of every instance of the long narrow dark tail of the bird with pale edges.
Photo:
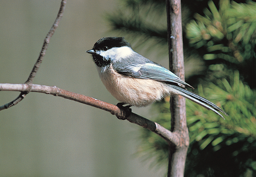
{"label": "long narrow dark tail of the bird with pale edges", "polygon": [[223,119],[224,119],[224,117],[219,112],[227,115],[227,113],[224,112],[222,109],[220,109],[218,106],[216,106],[212,102],[208,101],[207,99],[197,95],[196,93],[190,92],[188,90],[185,90],[185,89],[175,86],[175,85],[170,85],[170,89],[171,89],[171,93],[175,93],[177,95],[184,96],[185,98],[188,98],[191,101],[196,102],[197,104],[205,107],[206,109],[212,110],[213,112],[215,112],[216,114],[221,116]]}

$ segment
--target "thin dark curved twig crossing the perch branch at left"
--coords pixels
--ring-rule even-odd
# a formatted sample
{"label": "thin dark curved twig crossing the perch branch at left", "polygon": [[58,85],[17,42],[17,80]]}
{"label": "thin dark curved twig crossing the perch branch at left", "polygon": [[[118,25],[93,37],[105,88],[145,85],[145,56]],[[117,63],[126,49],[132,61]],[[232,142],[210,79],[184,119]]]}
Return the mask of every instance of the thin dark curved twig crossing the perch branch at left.
{"label": "thin dark curved twig crossing the perch branch at left", "polygon": [[[58,27],[59,25],[59,22],[60,22],[60,19],[62,18],[63,16],[63,13],[64,13],[64,9],[65,9],[65,5],[66,5],[66,0],[62,0],[61,3],[60,3],[60,9],[59,9],[59,12],[57,14],[57,17],[55,19],[55,22],[53,23],[50,31],[48,32],[48,34],[46,35],[46,37],[44,38],[44,44],[42,46],[42,49],[41,49],[41,52],[39,54],[39,57],[30,73],[30,75],[28,76],[28,79],[27,81],[25,82],[25,84],[27,84],[28,86],[30,86],[30,84],[32,84],[33,82],[33,79],[34,77],[36,76],[36,73],[37,71],[39,70],[39,67],[40,67],[40,64],[41,62],[43,61],[43,57],[45,55],[45,52],[48,48],[48,45],[49,45],[49,42],[50,42],[50,39],[52,37],[52,35],[54,34],[56,28]],[[15,98],[13,101],[3,105],[3,106],[0,106],[0,111],[3,110],[3,109],[7,109],[7,108],[10,108],[11,106],[14,106],[16,105],[18,102],[20,102],[23,98],[25,98],[25,96],[30,92],[30,89],[28,89],[28,91],[26,92],[21,92],[20,95]]]}

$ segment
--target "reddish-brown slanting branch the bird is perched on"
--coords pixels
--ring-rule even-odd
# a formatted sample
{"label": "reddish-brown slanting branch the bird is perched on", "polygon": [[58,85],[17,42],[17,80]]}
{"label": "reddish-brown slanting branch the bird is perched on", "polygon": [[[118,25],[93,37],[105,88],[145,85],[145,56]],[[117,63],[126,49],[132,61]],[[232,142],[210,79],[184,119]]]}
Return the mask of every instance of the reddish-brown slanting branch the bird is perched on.
{"label": "reddish-brown slanting branch the bird is perched on", "polygon": [[[28,84],[0,84],[0,91],[30,91],[46,93],[54,96],[60,96],[62,98],[70,99],[86,105],[90,105],[99,109],[103,109],[105,111],[110,112],[113,115],[116,115],[119,118],[126,118],[127,116],[126,109],[119,108],[116,105],[112,105],[110,103],[100,101],[92,97],[81,95],[79,93],[69,92],[60,89],[56,86],[46,86],[37,84],[31,84],[30,86]],[[155,132],[156,134],[164,138],[169,144],[174,144],[175,146],[179,146],[181,144],[181,138],[178,133],[171,132],[163,126],[159,125],[158,123],[145,119],[135,113],[131,113],[130,116],[127,117],[127,121],[147,128],[152,132]]]}

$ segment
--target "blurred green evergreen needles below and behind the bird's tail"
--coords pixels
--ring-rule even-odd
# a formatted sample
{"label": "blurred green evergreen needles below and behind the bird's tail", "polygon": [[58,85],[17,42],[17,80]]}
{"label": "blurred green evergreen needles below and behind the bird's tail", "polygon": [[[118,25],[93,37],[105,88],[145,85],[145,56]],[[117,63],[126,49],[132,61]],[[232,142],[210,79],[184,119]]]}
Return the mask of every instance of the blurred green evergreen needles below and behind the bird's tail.
{"label": "blurred green evergreen needles below and behind the bird's tail", "polygon": [[[187,176],[206,175],[209,170],[215,176],[239,176],[248,170],[256,175],[256,92],[239,80],[238,71],[230,79],[231,84],[226,79],[219,80],[218,85],[209,84],[204,89],[204,95],[202,86],[198,87],[199,95],[223,107],[228,113],[225,120],[186,100],[190,132]],[[159,114],[155,121],[170,129],[168,100],[156,103],[153,111],[157,110]],[[143,129],[142,133],[140,149],[144,154],[152,155],[154,152],[156,164],[167,162],[166,142],[148,130]]]}

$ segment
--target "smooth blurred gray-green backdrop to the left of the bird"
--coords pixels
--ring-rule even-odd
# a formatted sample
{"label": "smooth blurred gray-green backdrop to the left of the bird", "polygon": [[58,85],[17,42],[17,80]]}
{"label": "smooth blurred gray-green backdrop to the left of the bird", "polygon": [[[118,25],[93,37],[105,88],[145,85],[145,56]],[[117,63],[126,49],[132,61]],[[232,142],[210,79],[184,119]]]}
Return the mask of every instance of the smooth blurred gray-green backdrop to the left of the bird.
{"label": "smooth blurred gray-green backdrop to the left of the bird", "polygon": [[[104,16],[117,5],[117,0],[69,0],[33,83],[118,103],[85,53],[101,37],[115,36]],[[59,6],[60,0],[0,1],[0,83],[27,80]],[[0,104],[18,94],[1,91]],[[132,110],[150,119],[149,109]],[[31,92],[0,112],[0,176],[159,176],[166,169],[156,172],[135,155],[139,128],[106,111]]]}

